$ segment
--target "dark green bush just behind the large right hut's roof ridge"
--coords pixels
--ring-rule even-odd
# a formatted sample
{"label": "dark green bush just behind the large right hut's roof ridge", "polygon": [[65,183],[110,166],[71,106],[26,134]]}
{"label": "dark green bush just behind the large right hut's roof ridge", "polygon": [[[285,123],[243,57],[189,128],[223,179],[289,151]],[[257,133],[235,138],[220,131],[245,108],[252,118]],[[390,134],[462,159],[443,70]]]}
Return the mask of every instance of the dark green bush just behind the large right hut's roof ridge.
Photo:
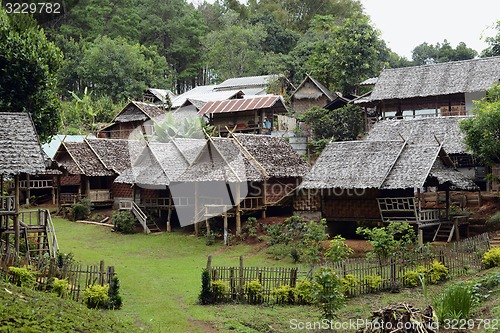
{"label": "dark green bush just behind the large right hut's roof ridge", "polygon": [[363,110],[352,104],[331,111],[314,106],[300,119],[311,126],[318,142],[356,140],[364,130]]}

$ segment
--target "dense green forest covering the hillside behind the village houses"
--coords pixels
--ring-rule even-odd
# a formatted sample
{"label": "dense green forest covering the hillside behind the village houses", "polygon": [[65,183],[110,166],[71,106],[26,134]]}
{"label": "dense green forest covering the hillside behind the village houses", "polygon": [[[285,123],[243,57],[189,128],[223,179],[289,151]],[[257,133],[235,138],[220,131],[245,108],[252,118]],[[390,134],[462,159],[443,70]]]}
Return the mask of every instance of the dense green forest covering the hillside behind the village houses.
{"label": "dense green forest covering the hillside behind the village houses", "polygon": [[[357,0],[66,0],[65,13],[36,17],[62,51],[57,94],[63,131],[91,130],[148,87],[179,94],[227,78],[305,74],[357,92],[383,68],[500,54],[499,36],[480,54],[446,40],[392,52]],[[12,16],[11,16],[12,19]],[[500,31],[500,29],[499,29]]]}

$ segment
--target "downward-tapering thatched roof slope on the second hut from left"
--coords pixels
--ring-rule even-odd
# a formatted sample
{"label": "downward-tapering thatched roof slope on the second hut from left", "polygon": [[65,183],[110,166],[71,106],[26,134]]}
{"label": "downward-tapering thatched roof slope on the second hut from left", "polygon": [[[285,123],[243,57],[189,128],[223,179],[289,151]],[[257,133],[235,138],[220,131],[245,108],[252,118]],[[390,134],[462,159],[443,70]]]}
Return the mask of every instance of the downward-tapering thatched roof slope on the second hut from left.
{"label": "downward-tapering thatched roof slope on the second hut from left", "polygon": [[117,174],[130,168],[143,148],[137,140],[87,139],[86,142],[104,166]]}

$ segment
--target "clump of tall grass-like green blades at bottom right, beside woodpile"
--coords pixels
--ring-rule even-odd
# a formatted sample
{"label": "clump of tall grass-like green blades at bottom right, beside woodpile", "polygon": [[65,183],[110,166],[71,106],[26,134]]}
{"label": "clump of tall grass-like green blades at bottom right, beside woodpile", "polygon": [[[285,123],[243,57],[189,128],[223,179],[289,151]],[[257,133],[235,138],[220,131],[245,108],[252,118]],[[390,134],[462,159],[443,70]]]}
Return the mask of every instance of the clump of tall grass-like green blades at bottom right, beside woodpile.
{"label": "clump of tall grass-like green blades at bottom right, beside woodpile", "polygon": [[468,319],[473,307],[471,288],[459,282],[445,289],[434,300],[434,309],[440,323],[445,320]]}

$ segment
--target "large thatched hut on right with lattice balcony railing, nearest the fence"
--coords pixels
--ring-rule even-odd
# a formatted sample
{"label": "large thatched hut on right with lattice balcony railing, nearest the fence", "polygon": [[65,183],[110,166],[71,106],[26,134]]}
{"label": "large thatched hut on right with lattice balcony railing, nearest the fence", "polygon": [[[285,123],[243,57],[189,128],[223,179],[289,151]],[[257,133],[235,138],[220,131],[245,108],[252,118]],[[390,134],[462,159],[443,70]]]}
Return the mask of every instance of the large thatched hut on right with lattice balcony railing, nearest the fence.
{"label": "large thatched hut on right with lattice balcony railing, nearest the fence", "polygon": [[[300,185],[294,209],[297,214],[326,218],[334,233],[353,234],[359,221],[408,221],[418,227],[421,239],[424,230],[435,238],[443,224],[451,228],[446,219],[449,205],[441,214],[421,209],[420,194],[428,187],[446,193],[451,188],[477,190],[454,169],[438,142],[332,142]],[[447,230],[449,237],[458,227]]]}

